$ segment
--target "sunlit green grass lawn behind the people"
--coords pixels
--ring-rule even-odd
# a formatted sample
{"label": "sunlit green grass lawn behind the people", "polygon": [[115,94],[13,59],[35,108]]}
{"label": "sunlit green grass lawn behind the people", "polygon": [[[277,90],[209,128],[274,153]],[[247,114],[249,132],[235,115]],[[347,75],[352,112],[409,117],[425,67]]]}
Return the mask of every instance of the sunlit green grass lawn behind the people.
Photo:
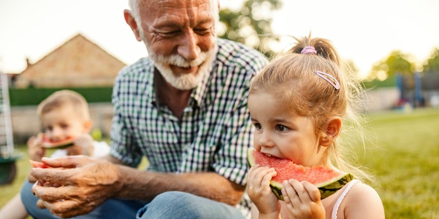
{"label": "sunlit green grass lawn behind the people", "polygon": [[[372,144],[359,161],[378,176],[386,218],[439,218],[439,109],[371,113]],[[19,190],[30,169],[25,146],[14,183],[0,186],[0,207]],[[373,209],[371,209],[373,210]]]}

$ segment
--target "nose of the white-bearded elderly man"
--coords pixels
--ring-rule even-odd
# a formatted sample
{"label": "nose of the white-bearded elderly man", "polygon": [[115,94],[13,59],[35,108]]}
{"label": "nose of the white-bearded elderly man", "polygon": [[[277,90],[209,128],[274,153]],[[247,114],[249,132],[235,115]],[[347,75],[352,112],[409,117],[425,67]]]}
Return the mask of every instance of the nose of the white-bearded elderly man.
{"label": "nose of the white-bearded elderly man", "polygon": [[185,37],[181,39],[177,52],[187,61],[197,59],[201,53],[198,41],[198,36],[193,31],[187,32]]}

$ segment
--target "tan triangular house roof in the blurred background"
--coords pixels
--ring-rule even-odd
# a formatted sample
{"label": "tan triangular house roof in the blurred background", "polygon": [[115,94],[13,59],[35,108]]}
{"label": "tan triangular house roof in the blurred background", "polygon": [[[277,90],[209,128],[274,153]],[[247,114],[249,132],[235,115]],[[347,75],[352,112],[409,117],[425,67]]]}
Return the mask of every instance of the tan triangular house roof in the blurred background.
{"label": "tan triangular house roof in the blurred background", "polygon": [[38,81],[55,80],[62,86],[69,86],[68,81],[79,78],[114,78],[124,66],[119,59],[78,34],[36,63],[28,63],[28,67],[17,77],[17,83],[27,81],[38,84]]}

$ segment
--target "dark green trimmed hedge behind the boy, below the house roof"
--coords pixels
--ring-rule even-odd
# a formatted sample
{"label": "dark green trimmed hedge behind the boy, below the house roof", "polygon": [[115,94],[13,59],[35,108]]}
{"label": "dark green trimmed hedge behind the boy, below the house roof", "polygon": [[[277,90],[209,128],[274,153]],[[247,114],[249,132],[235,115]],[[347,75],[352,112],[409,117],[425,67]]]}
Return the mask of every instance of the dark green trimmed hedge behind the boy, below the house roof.
{"label": "dark green trimmed hedge behind the boy, below the house roof", "polygon": [[11,106],[38,105],[55,91],[68,89],[77,91],[88,103],[111,102],[112,87],[101,88],[34,88],[9,89]]}

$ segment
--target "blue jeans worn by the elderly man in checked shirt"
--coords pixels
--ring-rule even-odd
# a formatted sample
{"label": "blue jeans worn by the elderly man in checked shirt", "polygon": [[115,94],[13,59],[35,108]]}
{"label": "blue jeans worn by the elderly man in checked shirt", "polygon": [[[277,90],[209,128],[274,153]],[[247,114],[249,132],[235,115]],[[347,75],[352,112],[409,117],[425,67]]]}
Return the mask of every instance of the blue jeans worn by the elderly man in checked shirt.
{"label": "blue jeans worn by the elderly man in checked shirt", "polygon": [[[37,207],[33,183],[23,183],[21,201],[34,219],[60,219],[47,209]],[[146,205],[145,205],[146,204]],[[140,210],[139,210],[140,209]],[[137,213],[137,215],[136,215]],[[238,208],[184,192],[165,192],[150,203],[109,199],[87,215],[74,219],[243,219]]]}

